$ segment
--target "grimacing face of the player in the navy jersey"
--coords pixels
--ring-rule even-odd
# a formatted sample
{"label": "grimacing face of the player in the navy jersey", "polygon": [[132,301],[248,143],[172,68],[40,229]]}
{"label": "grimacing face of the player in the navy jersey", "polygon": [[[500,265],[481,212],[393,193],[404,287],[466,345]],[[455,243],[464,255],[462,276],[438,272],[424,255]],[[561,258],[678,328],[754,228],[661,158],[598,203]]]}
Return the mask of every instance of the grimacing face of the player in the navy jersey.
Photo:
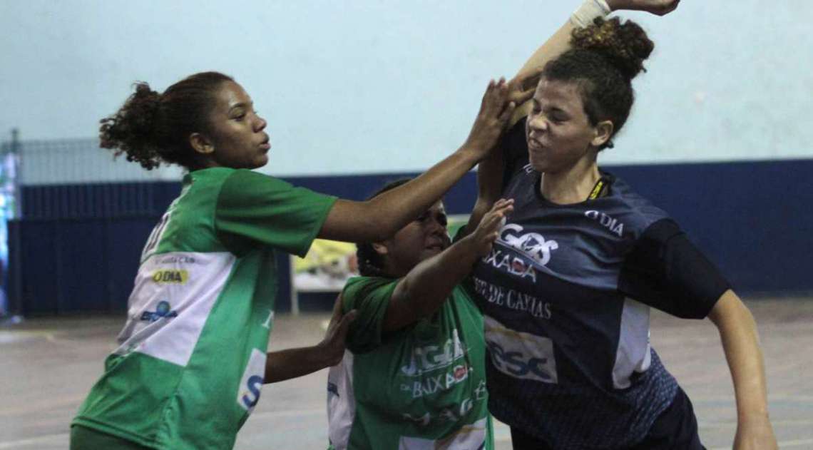
{"label": "grimacing face of the player in the navy jersey", "polygon": [[539,172],[556,173],[592,157],[596,136],[576,83],[542,79],[525,123],[528,158]]}

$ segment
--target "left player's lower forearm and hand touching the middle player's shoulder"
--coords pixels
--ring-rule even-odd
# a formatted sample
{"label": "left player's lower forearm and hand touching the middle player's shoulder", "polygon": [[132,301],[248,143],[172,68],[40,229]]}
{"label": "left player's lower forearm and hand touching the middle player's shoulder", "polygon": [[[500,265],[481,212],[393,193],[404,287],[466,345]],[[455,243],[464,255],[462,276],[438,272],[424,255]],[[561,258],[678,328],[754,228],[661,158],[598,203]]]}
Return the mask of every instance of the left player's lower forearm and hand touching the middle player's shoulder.
{"label": "left player's lower forearm and hand touching the middle player's shoulder", "polygon": [[287,348],[266,354],[265,381],[276,383],[311,374],[325,367],[336,366],[345,354],[345,338],[356,311],[342,316],[341,296],[333,304],[333,316],[324,339],[316,345],[302,348]]}

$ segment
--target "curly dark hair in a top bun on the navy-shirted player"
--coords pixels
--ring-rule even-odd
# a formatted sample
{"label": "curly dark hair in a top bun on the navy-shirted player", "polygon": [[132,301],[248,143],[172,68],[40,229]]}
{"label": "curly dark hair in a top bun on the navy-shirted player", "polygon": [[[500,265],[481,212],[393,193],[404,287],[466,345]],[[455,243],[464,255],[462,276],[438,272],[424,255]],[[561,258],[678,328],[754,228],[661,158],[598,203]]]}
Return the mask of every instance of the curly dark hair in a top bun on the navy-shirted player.
{"label": "curly dark hair in a top bun on the navy-shirted player", "polygon": [[[615,136],[633,107],[632,80],[646,71],[643,62],[654,43],[632,20],[599,17],[592,25],[573,30],[571,45],[571,50],[546,64],[542,78],[575,82],[590,124],[610,120]],[[599,150],[612,146],[608,140]]]}

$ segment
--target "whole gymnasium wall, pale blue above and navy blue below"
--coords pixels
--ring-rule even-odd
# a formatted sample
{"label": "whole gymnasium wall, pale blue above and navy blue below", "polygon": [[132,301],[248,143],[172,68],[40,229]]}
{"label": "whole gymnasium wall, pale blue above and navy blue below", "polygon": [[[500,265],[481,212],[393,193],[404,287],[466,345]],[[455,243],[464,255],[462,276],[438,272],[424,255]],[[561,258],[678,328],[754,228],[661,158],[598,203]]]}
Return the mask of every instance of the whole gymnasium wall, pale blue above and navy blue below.
{"label": "whole gymnasium wall, pale blue above and navy blue below", "polygon": [[[489,78],[512,76],[579,3],[0,2],[0,133],[22,139],[12,308],[124,309],[180,180],[89,138],[134,81],[234,76],[268,120],[261,171],[359,198],[391,178],[371,174],[422,171],[456,149]],[[622,14],[656,46],[600,163],[679,219],[740,292],[813,292],[811,13],[806,0],[715,0]],[[473,184],[450,194],[452,212],[471,207]]]}

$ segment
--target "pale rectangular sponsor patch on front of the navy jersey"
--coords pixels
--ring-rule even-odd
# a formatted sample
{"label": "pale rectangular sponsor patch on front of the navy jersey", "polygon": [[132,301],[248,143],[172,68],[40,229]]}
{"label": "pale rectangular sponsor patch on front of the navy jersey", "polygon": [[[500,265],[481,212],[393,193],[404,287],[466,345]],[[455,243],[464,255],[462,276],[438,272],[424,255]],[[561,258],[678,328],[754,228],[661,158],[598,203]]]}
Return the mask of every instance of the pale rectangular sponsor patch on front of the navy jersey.
{"label": "pale rectangular sponsor patch on front of the navy jersey", "polygon": [[557,383],[554,343],[544,337],[514,331],[484,316],[485,344],[494,366],[503,374],[542,383]]}

